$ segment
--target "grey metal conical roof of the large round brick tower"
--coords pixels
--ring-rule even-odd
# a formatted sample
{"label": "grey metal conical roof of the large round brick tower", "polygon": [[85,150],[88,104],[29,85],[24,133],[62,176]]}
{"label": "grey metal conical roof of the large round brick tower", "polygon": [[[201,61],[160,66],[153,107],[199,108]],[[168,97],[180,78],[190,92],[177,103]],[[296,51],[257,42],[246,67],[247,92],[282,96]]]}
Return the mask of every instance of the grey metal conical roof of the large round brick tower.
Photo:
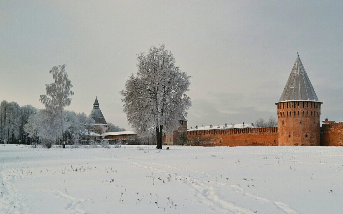
{"label": "grey metal conical roof of the large round brick tower", "polygon": [[279,100],[279,102],[287,101],[320,102],[299,58],[299,54]]}

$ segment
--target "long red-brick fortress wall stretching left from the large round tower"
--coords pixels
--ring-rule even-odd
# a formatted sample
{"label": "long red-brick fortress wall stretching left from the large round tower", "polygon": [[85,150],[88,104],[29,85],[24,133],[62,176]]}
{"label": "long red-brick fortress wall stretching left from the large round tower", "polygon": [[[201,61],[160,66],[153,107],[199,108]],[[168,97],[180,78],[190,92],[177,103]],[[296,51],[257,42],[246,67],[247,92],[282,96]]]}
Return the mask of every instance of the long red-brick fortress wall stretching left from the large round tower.
{"label": "long red-brick fortress wall stretching left from the large round tower", "polygon": [[278,127],[187,131],[190,146],[277,146]]}

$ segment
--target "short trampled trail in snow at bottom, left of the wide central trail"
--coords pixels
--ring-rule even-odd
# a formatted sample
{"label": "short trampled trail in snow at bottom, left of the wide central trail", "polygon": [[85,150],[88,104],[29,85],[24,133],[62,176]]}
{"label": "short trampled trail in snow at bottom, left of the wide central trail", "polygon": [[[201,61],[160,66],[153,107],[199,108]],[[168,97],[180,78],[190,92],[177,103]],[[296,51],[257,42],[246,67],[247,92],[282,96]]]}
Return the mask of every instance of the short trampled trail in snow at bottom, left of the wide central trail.
{"label": "short trampled trail in snow at bottom, left of the wide central trail", "polygon": [[70,194],[64,193],[63,191],[52,191],[52,190],[46,190],[46,189],[39,189],[36,191],[43,191],[43,192],[52,192],[54,193],[56,196],[67,199],[68,201],[70,201],[66,207],[64,207],[64,210],[66,210],[69,213],[87,213],[87,211],[82,210],[79,206],[81,203],[87,202],[87,199],[84,198],[78,198],[78,197],[73,197]]}

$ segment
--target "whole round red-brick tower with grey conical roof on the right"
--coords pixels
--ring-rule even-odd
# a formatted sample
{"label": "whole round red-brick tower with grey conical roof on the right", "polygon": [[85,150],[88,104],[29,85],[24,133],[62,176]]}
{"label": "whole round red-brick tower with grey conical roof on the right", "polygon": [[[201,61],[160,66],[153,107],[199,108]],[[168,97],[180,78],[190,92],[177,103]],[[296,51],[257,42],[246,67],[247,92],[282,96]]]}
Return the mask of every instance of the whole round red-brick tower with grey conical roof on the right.
{"label": "whole round red-brick tower with grey conical roof on the right", "polygon": [[320,146],[320,105],[299,58],[277,106],[279,146]]}

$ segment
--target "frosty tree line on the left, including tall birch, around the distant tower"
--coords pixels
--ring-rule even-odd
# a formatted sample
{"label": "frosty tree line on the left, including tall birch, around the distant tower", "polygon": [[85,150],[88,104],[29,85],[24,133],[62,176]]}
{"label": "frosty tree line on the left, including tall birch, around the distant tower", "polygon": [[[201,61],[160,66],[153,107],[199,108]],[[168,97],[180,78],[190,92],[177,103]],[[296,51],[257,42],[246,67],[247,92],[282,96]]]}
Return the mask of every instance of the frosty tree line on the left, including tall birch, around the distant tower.
{"label": "frosty tree line on the left, including tall birch, around the distant tower", "polygon": [[[3,100],[0,103],[0,141],[14,143],[21,139],[23,143],[33,143],[38,140],[47,148],[53,144],[74,144],[80,141],[81,135],[90,135],[95,129],[95,121],[88,118],[84,112],[64,110],[71,104],[74,94],[73,85],[68,79],[66,65],[54,66],[50,74],[54,83],[46,84],[46,94],[40,95],[39,100],[44,109],[36,109],[32,105],[19,106],[16,102]],[[86,125],[86,126],[85,126]],[[110,131],[123,131],[110,123]],[[87,127],[87,129],[85,129]]]}

